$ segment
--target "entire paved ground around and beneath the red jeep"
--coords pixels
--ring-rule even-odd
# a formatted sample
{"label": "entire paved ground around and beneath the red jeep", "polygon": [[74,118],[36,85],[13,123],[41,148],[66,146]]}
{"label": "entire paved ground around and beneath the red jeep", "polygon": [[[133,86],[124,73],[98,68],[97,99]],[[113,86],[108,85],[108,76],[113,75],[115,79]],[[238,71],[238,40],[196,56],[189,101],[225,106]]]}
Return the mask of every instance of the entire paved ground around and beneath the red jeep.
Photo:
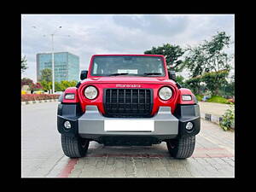
{"label": "entire paved ground around and beneath the red jeep", "polygon": [[[69,159],[56,130],[58,102],[22,106],[21,177],[235,177],[235,134],[201,120],[195,152],[175,160],[166,143],[150,147],[105,147],[90,142],[84,158]],[[70,168],[70,164],[73,167]],[[62,174],[63,175],[63,174]]]}

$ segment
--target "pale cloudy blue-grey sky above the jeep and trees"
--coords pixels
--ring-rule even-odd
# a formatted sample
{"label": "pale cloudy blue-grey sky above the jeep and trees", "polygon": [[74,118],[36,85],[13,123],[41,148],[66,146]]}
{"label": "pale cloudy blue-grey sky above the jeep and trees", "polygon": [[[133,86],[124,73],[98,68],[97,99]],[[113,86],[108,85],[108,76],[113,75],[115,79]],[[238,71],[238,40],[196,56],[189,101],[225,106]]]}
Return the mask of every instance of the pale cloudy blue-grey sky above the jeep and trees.
{"label": "pale cloudy blue-grey sky above the jeep and trees", "polygon": [[[21,15],[21,56],[28,66],[21,78],[36,82],[36,55],[51,52],[52,33],[55,52],[78,55],[86,70],[91,55],[143,54],[163,44],[186,48],[222,31],[235,41],[235,15]],[[235,44],[226,52],[235,54]]]}

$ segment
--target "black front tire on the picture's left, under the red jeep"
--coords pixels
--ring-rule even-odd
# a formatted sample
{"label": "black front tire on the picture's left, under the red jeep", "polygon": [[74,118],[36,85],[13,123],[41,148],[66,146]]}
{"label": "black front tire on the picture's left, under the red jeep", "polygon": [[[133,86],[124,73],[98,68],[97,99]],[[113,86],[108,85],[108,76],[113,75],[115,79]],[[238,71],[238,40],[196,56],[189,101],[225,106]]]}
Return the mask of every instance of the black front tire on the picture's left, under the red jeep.
{"label": "black front tire on the picture's left, under the red jeep", "polygon": [[80,137],[68,137],[61,134],[61,147],[64,154],[70,158],[84,157],[90,141]]}

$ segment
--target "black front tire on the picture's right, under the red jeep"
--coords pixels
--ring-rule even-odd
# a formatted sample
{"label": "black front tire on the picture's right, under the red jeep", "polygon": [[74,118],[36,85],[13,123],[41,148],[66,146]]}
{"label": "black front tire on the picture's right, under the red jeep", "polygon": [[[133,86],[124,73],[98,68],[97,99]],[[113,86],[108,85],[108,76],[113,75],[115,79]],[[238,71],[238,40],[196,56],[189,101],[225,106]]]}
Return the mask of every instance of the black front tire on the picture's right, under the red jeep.
{"label": "black front tire on the picture's right, under the red jeep", "polygon": [[170,139],[166,141],[166,144],[172,157],[176,159],[186,159],[194,152],[195,136]]}

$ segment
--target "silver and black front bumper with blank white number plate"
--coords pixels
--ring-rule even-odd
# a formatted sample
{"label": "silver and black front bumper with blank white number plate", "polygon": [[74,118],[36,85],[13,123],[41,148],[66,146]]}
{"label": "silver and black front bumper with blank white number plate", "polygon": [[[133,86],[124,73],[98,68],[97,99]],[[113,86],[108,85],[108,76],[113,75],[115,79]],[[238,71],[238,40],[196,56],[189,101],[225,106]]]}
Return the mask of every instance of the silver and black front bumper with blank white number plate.
{"label": "silver and black front bumper with blank white number plate", "polygon": [[[84,137],[99,143],[112,143],[113,140],[131,142],[133,138],[138,138],[136,143],[160,143],[166,139],[196,135],[200,131],[198,105],[178,106],[174,114],[171,108],[160,107],[152,118],[107,118],[102,116],[96,106],[87,106],[84,114],[79,114],[78,108],[78,104],[59,104],[57,119],[61,134]],[[71,123],[68,130],[64,127],[67,120]],[[187,122],[193,123],[192,131],[185,129]],[[112,129],[109,124],[119,126]],[[127,124],[131,125],[131,130]]]}

